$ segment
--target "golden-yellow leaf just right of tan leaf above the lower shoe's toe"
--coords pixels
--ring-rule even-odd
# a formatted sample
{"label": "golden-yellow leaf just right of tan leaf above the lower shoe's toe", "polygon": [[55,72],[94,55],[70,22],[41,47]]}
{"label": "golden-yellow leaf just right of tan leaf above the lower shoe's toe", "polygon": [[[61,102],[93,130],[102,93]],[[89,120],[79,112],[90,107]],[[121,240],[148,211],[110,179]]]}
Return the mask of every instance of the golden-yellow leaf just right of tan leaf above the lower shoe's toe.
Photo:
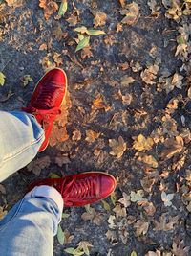
{"label": "golden-yellow leaf just right of tan leaf above the lower shoe's toe", "polygon": [[153,147],[154,141],[152,138],[145,138],[144,135],[139,134],[134,141],[133,149],[137,151],[150,151]]}

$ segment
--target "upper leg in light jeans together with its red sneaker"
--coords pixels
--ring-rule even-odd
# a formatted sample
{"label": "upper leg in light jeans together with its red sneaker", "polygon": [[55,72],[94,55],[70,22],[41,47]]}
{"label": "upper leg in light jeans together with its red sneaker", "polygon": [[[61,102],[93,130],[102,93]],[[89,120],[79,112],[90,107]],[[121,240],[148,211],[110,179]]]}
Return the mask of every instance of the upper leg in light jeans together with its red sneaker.
{"label": "upper leg in light jeans together with its red sneaker", "polygon": [[38,81],[24,111],[0,111],[0,182],[47,148],[66,89],[65,72],[53,68]]}

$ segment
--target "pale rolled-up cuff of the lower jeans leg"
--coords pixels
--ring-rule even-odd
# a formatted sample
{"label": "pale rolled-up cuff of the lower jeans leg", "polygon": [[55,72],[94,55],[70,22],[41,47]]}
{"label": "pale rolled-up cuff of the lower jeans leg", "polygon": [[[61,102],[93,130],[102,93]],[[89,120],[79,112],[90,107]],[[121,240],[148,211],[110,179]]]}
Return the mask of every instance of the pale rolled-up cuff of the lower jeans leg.
{"label": "pale rolled-up cuff of the lower jeans leg", "polygon": [[25,198],[50,198],[58,207],[60,213],[63,212],[64,201],[61,194],[53,187],[47,185],[37,186],[32,189]]}

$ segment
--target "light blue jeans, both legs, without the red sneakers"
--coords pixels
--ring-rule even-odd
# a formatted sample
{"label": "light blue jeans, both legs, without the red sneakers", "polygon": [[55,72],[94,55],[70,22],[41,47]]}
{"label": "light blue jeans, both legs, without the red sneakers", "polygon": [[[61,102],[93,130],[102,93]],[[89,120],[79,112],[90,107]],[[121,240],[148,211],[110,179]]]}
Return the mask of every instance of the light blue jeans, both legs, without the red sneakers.
{"label": "light blue jeans, both legs, without the red sneakers", "polygon": [[[30,163],[43,140],[32,115],[0,111],[0,182]],[[0,221],[0,256],[53,255],[62,210],[63,199],[53,187],[35,187]]]}

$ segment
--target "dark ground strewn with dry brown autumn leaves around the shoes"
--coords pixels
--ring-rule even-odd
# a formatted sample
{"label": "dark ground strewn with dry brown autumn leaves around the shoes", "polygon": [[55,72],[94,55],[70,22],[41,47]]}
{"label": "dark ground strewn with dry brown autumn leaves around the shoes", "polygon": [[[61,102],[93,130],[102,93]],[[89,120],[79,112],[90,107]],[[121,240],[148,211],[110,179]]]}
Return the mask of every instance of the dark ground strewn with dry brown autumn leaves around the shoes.
{"label": "dark ground strewn with dry brown autumn leaves around the shoes", "polygon": [[0,0],[1,109],[47,69],[69,78],[50,147],[0,184],[0,218],[33,179],[103,171],[116,193],[66,209],[54,255],[191,255],[190,14],[190,0]]}

